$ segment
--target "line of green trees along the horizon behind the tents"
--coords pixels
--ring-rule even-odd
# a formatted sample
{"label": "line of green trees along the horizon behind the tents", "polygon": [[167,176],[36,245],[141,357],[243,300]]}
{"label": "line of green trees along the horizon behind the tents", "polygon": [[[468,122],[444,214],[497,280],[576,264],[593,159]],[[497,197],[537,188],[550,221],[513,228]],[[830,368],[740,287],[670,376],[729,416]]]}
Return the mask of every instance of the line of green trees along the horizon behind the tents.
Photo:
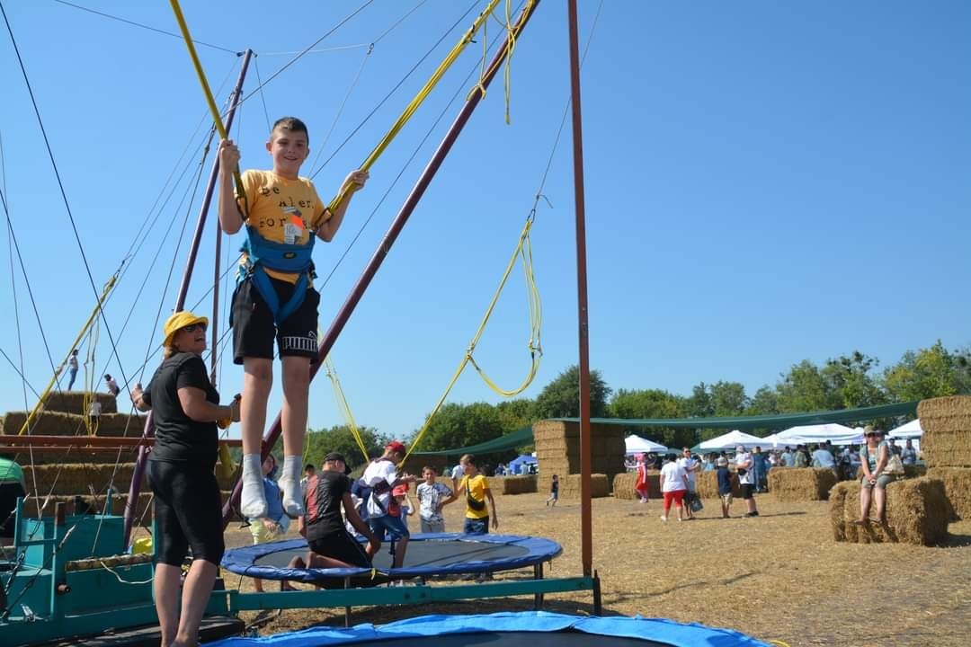
{"label": "line of green trees along the horizon behind the tents", "polygon": [[[590,416],[598,418],[708,418],[778,413],[828,411],[878,404],[893,404],[971,393],[971,348],[948,350],[941,341],[929,348],[907,351],[900,361],[884,370],[874,357],[859,351],[826,360],[810,360],[780,373],[774,385],[763,385],[752,395],[740,382],[699,382],[689,395],[658,388],[611,388],[601,372],[590,372]],[[560,372],[535,399],[516,399],[499,404],[445,404],[421,439],[422,451],[439,451],[474,445],[531,426],[546,418],[580,414],[580,372],[572,366]],[[887,428],[906,420],[868,422]],[[727,430],[690,430],[631,427],[626,430],[668,446],[693,445]],[[765,436],[780,430],[755,430]],[[415,430],[412,437],[417,434]],[[379,430],[361,428],[371,456],[387,441]],[[531,449],[522,447],[520,449]],[[318,464],[328,451],[340,451],[352,468],[365,459],[346,426],[312,431],[307,437],[307,459]],[[497,461],[508,460],[506,452]],[[318,456],[319,455],[319,456]]]}

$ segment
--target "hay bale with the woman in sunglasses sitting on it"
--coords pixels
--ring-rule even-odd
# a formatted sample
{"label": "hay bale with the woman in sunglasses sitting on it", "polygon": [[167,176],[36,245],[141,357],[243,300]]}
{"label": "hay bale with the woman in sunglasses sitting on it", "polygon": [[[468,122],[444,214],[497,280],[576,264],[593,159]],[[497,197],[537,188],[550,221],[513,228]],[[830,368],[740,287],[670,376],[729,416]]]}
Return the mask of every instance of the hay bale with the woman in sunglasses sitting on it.
{"label": "hay bale with the woman in sunglasses sitting on it", "polygon": [[[837,541],[931,546],[947,537],[947,498],[944,483],[936,478],[905,478],[887,485],[886,526],[876,522],[863,526],[852,523],[859,516],[859,483],[844,481],[834,490],[829,509]],[[837,509],[840,501],[842,505]],[[873,506],[871,514],[875,511]]]}

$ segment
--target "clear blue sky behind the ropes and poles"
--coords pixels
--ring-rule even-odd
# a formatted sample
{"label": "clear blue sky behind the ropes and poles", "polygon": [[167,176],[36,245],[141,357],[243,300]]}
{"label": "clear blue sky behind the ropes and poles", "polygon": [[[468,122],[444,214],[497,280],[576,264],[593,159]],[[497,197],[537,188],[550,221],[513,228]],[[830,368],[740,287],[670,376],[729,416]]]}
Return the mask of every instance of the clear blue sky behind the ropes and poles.
{"label": "clear blue sky behind the ropes and poles", "polygon": [[[161,0],[78,4],[178,31]],[[186,0],[184,13],[197,40],[255,50],[266,81],[292,58],[280,52],[306,48],[358,7],[300,4],[282,16],[267,2]],[[581,5],[586,39],[598,3]],[[366,60],[366,48],[348,47],[374,42],[416,6]],[[296,114],[309,122],[312,159],[322,151],[322,161],[470,6],[378,0],[365,8],[318,46],[330,50],[307,54],[243,105],[233,136],[244,167],[268,162],[264,101],[271,119]],[[188,213],[187,240],[198,210],[198,195],[189,205],[202,141],[197,128],[207,114],[198,81],[176,38],[52,0],[7,0],[4,8],[99,288],[140,228],[151,225],[107,308],[122,366],[109,362],[102,327],[92,369],[137,378],[159,338],[156,312],[164,319],[170,311],[183,271],[185,247],[177,251],[174,238]],[[699,381],[726,379],[743,382],[751,395],[806,358],[822,362],[858,349],[886,366],[938,339],[952,348],[971,342],[969,26],[971,5],[960,1],[607,0],[583,73],[583,111],[590,360],[608,384],[687,393]],[[316,176],[321,194],[332,195],[376,145],[460,31]],[[496,33],[492,22],[489,37]],[[373,168],[335,242],[318,247],[321,276],[476,64],[478,47],[466,51]],[[199,51],[221,104],[238,59],[218,49]],[[567,53],[565,3],[544,0],[517,46],[512,125],[503,122],[500,77],[335,345],[333,358],[359,424],[406,435],[446,386],[550,155],[568,96]],[[0,75],[4,196],[56,362],[94,296],[5,30]],[[253,67],[248,91],[257,84]],[[321,328],[329,326],[456,112],[457,105],[322,286]],[[539,211],[533,230],[545,356],[525,393],[531,397],[578,357],[570,162],[567,135],[544,190],[553,209]],[[186,176],[163,190],[173,171]],[[153,208],[157,196],[170,192],[163,208]],[[172,222],[175,232],[166,238]],[[212,226],[190,305],[212,282]],[[237,236],[229,245],[239,242]],[[9,268],[8,245],[3,248]],[[40,390],[50,363],[16,259],[14,275],[21,341],[8,277],[0,282],[7,311],[0,347],[15,362],[22,347],[27,377]],[[477,353],[508,386],[528,366],[523,294],[517,273]],[[157,362],[152,354],[150,372]],[[223,394],[239,390],[240,382],[241,370],[223,365]],[[0,385],[0,410],[24,408],[20,378],[6,361]],[[279,390],[278,382],[274,410]],[[313,427],[343,423],[326,380],[318,379],[311,395]],[[459,380],[450,400],[496,402],[473,372]]]}

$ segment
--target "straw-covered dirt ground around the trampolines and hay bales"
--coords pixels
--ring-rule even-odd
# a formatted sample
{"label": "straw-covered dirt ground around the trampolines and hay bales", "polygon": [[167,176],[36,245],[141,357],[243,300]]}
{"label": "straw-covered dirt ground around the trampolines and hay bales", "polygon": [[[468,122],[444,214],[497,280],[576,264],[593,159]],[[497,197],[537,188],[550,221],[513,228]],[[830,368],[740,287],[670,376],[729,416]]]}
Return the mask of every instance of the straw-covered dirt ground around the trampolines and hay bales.
{"label": "straw-covered dirt ground around the trampolines and hay bales", "polygon": [[[559,542],[563,554],[548,575],[581,575],[579,502],[548,508],[545,499],[545,494],[496,497],[499,532]],[[951,524],[947,544],[939,547],[856,545],[833,540],[824,501],[779,503],[772,495],[757,501],[757,518],[741,517],[744,504],[738,501],[733,517],[721,519],[719,501],[712,500],[705,501],[696,521],[678,523],[672,511],[665,524],[658,518],[660,501],[593,500],[593,567],[602,579],[604,615],[698,622],[791,647],[966,644],[971,521]],[[461,528],[463,513],[457,503],[446,508],[447,530]],[[237,525],[226,538],[229,546],[251,542],[249,531]],[[227,587],[252,590],[250,579],[224,576]],[[381,624],[429,613],[531,608],[531,597],[495,598],[355,608],[353,618]],[[592,599],[589,592],[553,594],[545,608],[588,614]],[[247,613],[244,619],[268,635],[318,624],[343,626],[344,616],[343,609],[305,609]]]}

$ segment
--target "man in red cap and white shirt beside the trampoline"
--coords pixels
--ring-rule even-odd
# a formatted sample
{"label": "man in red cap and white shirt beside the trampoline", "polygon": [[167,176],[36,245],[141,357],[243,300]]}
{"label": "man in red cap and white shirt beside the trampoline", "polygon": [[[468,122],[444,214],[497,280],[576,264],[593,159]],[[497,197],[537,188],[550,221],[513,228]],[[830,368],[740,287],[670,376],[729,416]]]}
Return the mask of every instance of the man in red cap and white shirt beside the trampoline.
{"label": "man in red cap and white shirt beside the trampoline", "polygon": [[391,440],[385,446],[385,454],[364,469],[361,480],[371,488],[371,497],[367,500],[368,525],[371,532],[381,541],[385,533],[396,542],[394,561],[391,566],[400,568],[405,562],[405,551],[408,549],[408,526],[401,519],[401,508],[391,496],[391,491],[398,485],[414,483],[417,477],[402,474],[398,476],[398,463],[405,458],[405,445],[400,440]]}

